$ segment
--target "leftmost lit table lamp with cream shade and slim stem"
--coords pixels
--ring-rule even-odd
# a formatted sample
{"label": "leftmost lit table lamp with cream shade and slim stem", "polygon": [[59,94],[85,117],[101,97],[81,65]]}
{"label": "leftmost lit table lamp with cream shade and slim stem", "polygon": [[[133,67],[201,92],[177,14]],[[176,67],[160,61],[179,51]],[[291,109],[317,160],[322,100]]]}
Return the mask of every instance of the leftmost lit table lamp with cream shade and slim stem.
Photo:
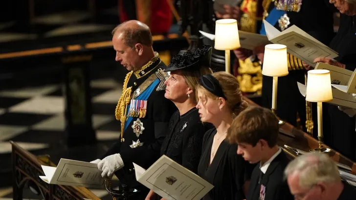
{"label": "leftmost lit table lamp with cream shade and slim stem", "polygon": [[225,50],[225,71],[230,74],[230,50],[240,48],[237,20],[222,19],[215,21],[215,45],[217,50]]}

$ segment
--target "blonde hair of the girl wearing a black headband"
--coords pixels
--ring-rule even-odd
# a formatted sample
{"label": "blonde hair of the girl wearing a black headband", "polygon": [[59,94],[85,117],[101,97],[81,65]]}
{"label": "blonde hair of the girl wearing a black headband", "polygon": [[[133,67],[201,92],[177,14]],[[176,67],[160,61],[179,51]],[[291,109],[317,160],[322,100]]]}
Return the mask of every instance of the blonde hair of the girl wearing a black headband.
{"label": "blonde hair of the girl wearing a black headband", "polygon": [[[235,118],[239,115],[241,111],[247,108],[248,104],[245,100],[242,99],[242,93],[240,91],[240,84],[237,81],[236,77],[227,73],[227,72],[215,72],[212,74],[215,79],[219,81],[219,84],[222,87],[223,94],[226,97],[226,105],[228,106],[232,117]],[[202,85],[198,85],[196,96],[198,96],[198,90],[202,94],[211,99],[218,99],[216,95],[212,94],[206,90]]]}

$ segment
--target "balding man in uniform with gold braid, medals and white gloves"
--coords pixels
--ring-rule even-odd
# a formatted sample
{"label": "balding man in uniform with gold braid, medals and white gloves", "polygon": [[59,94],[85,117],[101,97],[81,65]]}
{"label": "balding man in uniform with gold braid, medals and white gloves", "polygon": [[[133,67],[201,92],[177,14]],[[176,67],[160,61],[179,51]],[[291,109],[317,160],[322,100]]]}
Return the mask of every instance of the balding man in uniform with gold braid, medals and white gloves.
{"label": "balding man in uniform with gold braid, medals and white gloves", "polygon": [[[98,163],[102,177],[111,177],[117,170],[117,177],[128,181],[131,187],[148,193],[130,173],[133,162],[143,168],[150,167],[158,158],[161,143],[168,128],[168,120],[176,107],[164,98],[163,72],[166,65],[152,48],[150,28],[137,20],[118,25],[112,31],[112,43],[116,51],[115,60],[130,72],[124,80],[122,95],[115,110],[116,120],[121,122],[121,137]],[[121,177],[120,177],[121,176]]]}

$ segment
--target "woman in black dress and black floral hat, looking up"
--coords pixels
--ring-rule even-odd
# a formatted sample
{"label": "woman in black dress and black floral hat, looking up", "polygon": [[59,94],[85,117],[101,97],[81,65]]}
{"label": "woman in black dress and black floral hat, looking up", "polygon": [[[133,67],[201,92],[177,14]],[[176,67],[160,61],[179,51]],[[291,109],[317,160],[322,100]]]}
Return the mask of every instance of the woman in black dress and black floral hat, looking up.
{"label": "woman in black dress and black floral hat, looking up", "polygon": [[[201,140],[204,133],[212,128],[202,123],[198,109],[195,87],[200,76],[211,74],[210,56],[212,47],[204,45],[193,51],[180,51],[173,57],[165,69],[170,77],[165,81],[165,98],[174,102],[178,110],[169,121],[168,135],[162,147],[161,155],[166,155],[183,167],[197,173],[201,155]],[[146,200],[154,200],[156,194],[151,190]]]}

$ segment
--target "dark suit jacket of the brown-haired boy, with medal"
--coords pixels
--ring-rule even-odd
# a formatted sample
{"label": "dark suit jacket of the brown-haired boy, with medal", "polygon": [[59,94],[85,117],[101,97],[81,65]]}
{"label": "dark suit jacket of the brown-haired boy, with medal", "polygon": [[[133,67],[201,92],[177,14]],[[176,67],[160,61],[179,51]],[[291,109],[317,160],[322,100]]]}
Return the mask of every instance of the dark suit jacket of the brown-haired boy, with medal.
{"label": "dark suit jacket of the brown-haired boy, with medal", "polygon": [[[260,165],[258,164],[252,172],[246,200],[294,200],[294,197],[290,194],[287,181],[283,178],[284,169],[288,162],[289,159],[282,150],[270,162],[265,174],[260,170]],[[262,193],[265,190],[265,197],[259,199],[261,190]]]}

